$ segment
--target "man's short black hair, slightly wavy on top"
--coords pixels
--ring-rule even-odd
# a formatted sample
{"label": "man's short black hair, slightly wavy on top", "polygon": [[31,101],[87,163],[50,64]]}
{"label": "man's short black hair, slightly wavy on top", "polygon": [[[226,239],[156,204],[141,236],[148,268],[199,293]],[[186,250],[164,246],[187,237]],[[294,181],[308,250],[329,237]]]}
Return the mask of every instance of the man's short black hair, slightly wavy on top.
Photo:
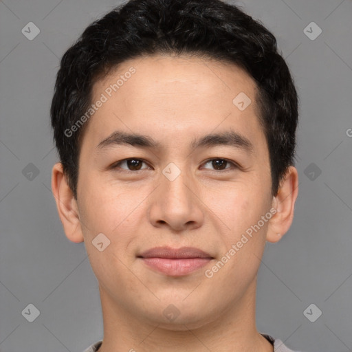
{"label": "man's short black hair, slightly wavy on top", "polygon": [[221,0],[131,0],[91,23],[61,59],[50,109],[63,171],[77,199],[78,159],[92,88],[120,63],[155,54],[190,54],[236,64],[256,81],[256,104],[270,155],[272,195],[294,166],[298,95],[274,35]]}

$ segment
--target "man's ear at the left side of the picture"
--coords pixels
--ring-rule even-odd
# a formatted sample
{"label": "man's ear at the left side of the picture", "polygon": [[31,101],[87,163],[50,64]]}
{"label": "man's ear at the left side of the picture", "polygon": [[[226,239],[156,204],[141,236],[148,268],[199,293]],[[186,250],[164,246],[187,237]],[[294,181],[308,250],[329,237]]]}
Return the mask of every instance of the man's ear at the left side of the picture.
{"label": "man's ear at the left side of the picture", "polygon": [[71,188],[69,188],[61,162],[56,163],[52,168],[52,192],[67,239],[74,243],[83,242],[84,237],[80,227],[77,201]]}

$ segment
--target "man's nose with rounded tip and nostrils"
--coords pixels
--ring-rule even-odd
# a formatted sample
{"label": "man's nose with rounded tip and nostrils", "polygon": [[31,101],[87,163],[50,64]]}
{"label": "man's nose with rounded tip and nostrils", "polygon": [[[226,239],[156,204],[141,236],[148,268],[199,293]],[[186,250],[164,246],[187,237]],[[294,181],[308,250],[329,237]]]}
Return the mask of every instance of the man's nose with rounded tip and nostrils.
{"label": "man's nose with rounded tip and nostrils", "polygon": [[153,192],[149,220],[157,228],[168,227],[174,232],[199,228],[203,223],[199,186],[185,172],[175,179],[159,177],[159,186]]}

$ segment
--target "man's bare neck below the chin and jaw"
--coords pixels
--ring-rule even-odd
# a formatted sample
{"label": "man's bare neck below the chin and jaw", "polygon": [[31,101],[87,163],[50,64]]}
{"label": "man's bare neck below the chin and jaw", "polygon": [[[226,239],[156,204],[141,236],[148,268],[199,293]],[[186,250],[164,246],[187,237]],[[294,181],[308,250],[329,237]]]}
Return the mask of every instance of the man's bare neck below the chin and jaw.
{"label": "man's bare neck below the chin and jaw", "polygon": [[[116,305],[100,287],[104,339],[98,352],[273,352],[255,325],[256,280],[230,309],[192,324],[142,320]],[[175,320],[176,321],[176,320]]]}

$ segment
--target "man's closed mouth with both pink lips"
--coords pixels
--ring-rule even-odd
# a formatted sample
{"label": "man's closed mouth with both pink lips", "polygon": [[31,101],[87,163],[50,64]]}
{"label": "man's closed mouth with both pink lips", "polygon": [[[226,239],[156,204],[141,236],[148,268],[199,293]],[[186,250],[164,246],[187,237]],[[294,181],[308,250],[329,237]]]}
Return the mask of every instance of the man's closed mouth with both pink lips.
{"label": "man's closed mouth with both pink lips", "polygon": [[151,269],[168,276],[184,276],[199,270],[214,257],[193,247],[156,247],[143,252],[137,258]]}

